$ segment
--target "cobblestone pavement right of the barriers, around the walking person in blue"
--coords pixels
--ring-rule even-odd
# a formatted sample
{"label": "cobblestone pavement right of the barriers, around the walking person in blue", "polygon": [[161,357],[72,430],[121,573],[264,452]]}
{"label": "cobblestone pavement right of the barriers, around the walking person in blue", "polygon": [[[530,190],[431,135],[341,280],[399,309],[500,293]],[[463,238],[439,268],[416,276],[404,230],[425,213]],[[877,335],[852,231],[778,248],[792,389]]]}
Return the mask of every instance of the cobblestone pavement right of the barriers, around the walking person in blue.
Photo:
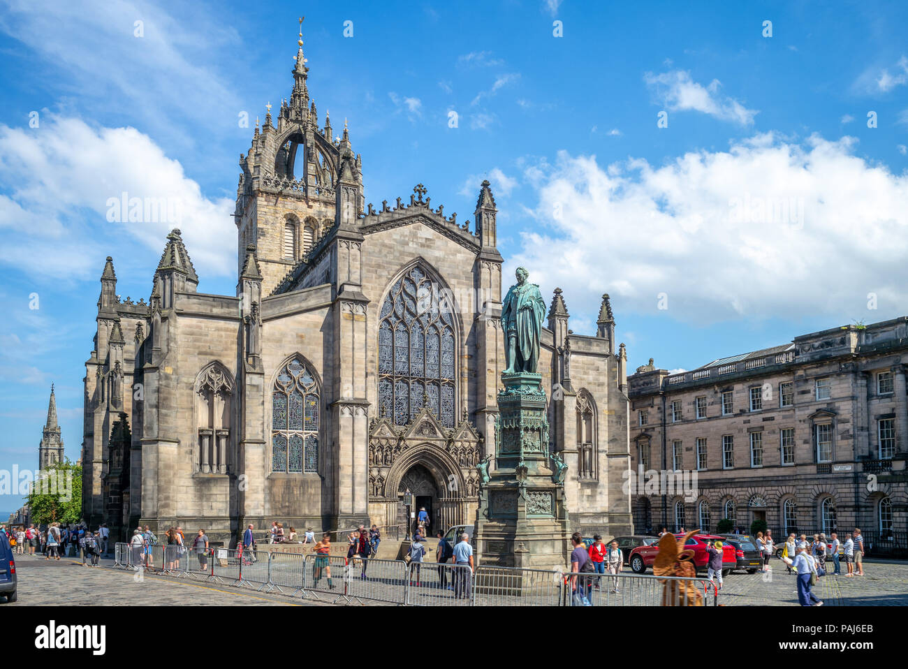
{"label": "cobblestone pavement right of the barriers, around the walking person in blue", "polygon": [[[726,576],[719,604],[797,606],[795,575],[787,574],[780,560],[771,560],[770,566],[769,574]],[[908,606],[908,563],[865,560],[864,575],[824,576],[814,594],[827,606]]]}

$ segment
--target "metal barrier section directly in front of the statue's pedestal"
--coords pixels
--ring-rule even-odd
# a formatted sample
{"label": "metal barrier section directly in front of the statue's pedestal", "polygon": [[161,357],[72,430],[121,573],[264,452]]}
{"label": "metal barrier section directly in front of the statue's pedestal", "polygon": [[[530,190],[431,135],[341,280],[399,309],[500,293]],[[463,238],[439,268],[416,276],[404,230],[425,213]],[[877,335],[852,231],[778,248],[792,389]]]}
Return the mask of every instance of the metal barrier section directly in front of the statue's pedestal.
{"label": "metal barrier section directly in front of the statue's pedestal", "polygon": [[474,606],[559,606],[563,599],[558,571],[480,566],[473,575]]}

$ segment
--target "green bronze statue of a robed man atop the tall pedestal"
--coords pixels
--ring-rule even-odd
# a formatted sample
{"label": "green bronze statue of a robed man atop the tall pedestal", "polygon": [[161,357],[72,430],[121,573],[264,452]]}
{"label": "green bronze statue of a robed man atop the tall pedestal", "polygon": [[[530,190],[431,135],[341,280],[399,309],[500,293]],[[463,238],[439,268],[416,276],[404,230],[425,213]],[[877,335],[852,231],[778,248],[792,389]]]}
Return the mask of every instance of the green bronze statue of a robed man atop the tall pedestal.
{"label": "green bronze statue of a robed man atop the tall pedestal", "polygon": [[501,308],[501,328],[505,332],[505,374],[536,372],[539,363],[539,340],[546,301],[535,283],[529,283],[529,272],[518,267],[517,283],[508,289]]}

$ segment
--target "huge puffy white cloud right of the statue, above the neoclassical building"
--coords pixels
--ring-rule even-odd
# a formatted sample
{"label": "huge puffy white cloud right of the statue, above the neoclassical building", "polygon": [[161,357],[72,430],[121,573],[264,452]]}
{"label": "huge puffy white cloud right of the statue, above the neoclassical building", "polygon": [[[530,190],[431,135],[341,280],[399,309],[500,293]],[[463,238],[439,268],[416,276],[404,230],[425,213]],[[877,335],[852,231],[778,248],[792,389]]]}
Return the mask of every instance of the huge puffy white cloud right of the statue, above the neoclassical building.
{"label": "huge puffy white cloud right of the statue, above the neoclassical building", "polygon": [[874,292],[873,318],[892,317],[908,282],[908,174],[854,155],[855,144],[767,133],[663,166],[560,152],[524,170],[540,225],[525,226],[508,264],[590,312],[608,292],[622,309],[685,321],[850,320]]}

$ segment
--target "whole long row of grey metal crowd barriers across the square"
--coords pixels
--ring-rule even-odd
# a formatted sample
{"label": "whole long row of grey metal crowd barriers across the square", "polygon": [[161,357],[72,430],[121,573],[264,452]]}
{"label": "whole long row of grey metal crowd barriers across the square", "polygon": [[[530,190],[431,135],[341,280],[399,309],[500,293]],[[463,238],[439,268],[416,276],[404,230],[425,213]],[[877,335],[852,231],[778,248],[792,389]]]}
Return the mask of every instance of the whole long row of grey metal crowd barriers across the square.
{"label": "whole long row of grey metal crowd barriers across the square", "polygon": [[700,595],[718,604],[716,585],[706,578],[637,574],[575,574],[542,569],[435,562],[406,563],[342,556],[187,548],[114,546],[114,566],[158,571],[167,576],[213,579],[226,585],[301,594],[322,601],[395,605],[570,606],[587,595],[593,606],[685,606]]}

